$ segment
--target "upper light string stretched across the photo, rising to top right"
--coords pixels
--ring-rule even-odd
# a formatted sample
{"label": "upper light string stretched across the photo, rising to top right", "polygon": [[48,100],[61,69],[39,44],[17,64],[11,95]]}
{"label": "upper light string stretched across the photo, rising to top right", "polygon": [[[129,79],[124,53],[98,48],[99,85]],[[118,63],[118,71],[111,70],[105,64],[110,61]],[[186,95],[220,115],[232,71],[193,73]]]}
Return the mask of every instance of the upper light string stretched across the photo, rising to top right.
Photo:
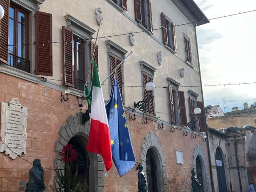
{"label": "upper light string stretched across the photo, rising to top right", "polygon": [[[238,13],[235,13],[235,14],[231,14],[231,15],[223,15],[223,16],[220,16],[220,17],[214,17],[214,18],[211,18],[209,20],[218,20],[220,18],[224,18],[224,17],[232,17],[234,15],[241,15],[241,14],[245,14],[245,13],[250,13],[250,12],[255,12],[256,9],[254,10],[250,10],[250,11],[246,11],[246,12],[238,12]],[[183,23],[183,24],[179,24],[179,25],[175,25],[174,27],[177,27],[177,26],[184,26],[184,25],[188,25],[188,24],[195,24],[195,25],[198,25],[198,23],[204,23],[204,20],[200,21],[200,22],[189,22],[189,23]],[[88,41],[88,40],[96,40],[96,39],[101,39],[101,38],[111,38],[111,37],[117,37],[117,36],[122,36],[122,35],[129,35],[129,34],[136,34],[136,33],[143,33],[143,32],[151,32],[151,31],[157,31],[157,30],[160,30],[160,29],[169,29],[171,28],[172,26],[167,26],[167,27],[160,27],[160,28],[156,28],[156,29],[147,29],[147,30],[142,30],[142,31],[137,31],[137,32],[127,32],[127,33],[119,33],[119,34],[116,34],[116,35],[105,35],[105,36],[102,36],[102,37],[96,37],[96,38],[86,38],[86,39],[81,39],[81,40],[73,40],[73,41]],[[30,43],[29,44],[13,44],[13,45],[0,45],[0,47],[8,47],[8,46],[26,46],[26,45],[42,45],[44,46],[44,44],[58,44],[58,43],[71,43],[72,44],[72,41],[53,41],[53,42],[40,42],[40,43]]]}

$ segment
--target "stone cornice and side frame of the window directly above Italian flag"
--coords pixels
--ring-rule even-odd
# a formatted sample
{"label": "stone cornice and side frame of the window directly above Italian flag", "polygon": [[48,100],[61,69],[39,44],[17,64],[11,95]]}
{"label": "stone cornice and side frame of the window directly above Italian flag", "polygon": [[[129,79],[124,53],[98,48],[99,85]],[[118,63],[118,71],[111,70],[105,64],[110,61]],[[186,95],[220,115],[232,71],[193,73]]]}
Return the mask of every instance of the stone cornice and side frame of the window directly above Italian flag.
{"label": "stone cornice and side frame of the window directly above Italian flag", "polygon": [[[83,49],[84,49],[84,54],[83,54],[83,61],[85,65],[85,75],[84,78],[85,80],[88,79],[88,83],[90,83],[90,77],[89,69],[90,69],[90,61],[91,61],[91,52],[90,52],[90,40],[93,38],[93,34],[95,34],[96,30],[92,29],[90,26],[86,25],[82,21],[78,20],[76,17],[67,14],[64,16],[66,20],[66,26],[68,29],[70,29],[73,33],[78,38],[81,38],[83,42]],[[73,88],[75,89],[75,88]],[[75,89],[76,90],[76,89]]]}

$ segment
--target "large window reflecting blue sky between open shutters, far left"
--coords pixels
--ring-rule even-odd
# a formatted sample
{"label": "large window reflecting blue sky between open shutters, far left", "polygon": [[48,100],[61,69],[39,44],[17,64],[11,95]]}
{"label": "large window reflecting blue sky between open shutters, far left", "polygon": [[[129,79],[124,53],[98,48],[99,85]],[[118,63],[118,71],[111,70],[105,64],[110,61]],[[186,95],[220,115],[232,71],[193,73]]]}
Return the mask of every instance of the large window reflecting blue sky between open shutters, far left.
{"label": "large window reflecting blue sky between open shutters, far left", "polygon": [[28,61],[29,26],[28,12],[16,7],[9,7],[9,46],[8,65],[17,69],[30,72],[30,61]]}

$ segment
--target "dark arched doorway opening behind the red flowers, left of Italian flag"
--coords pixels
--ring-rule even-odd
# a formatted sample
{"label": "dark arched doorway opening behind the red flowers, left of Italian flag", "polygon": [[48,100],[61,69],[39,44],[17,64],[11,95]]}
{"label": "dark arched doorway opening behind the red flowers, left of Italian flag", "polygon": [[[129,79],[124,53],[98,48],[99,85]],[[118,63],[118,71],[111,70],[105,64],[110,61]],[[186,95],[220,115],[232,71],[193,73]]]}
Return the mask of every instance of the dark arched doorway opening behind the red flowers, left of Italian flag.
{"label": "dark arched doorway opening behind the red flowers, left of Italian flag", "polygon": [[89,157],[88,153],[85,150],[84,141],[81,140],[81,137],[75,136],[70,139],[68,142],[69,144],[72,144],[74,148],[76,149],[78,153],[78,158],[76,161],[72,162],[73,166],[73,174],[75,173],[75,169],[77,167],[78,173],[77,173],[77,180],[83,183],[85,180],[87,182],[87,185],[89,186]]}

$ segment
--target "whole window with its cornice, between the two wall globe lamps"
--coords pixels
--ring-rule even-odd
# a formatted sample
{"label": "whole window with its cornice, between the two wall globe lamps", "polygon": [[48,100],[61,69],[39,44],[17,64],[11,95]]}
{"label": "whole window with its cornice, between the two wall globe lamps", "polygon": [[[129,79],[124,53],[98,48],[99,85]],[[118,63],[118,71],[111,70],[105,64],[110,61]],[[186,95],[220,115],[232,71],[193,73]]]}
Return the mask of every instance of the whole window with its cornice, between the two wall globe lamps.
{"label": "whole window with its cornice, between the two wall globe lamps", "polygon": [[178,102],[178,88],[180,83],[174,79],[167,78],[169,84],[169,97],[170,97],[170,119],[171,123],[180,124],[180,112],[179,112],[179,102]]}

